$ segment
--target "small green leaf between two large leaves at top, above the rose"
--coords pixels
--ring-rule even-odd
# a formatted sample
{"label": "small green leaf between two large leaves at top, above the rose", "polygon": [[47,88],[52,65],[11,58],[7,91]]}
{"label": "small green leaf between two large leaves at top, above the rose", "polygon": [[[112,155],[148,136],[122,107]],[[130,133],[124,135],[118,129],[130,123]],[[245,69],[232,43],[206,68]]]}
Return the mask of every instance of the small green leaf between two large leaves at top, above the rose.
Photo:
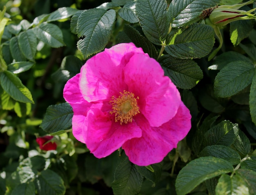
{"label": "small green leaf between two large leaves at top, above the rose", "polygon": [[136,12],[135,12],[135,3],[136,2],[133,1],[125,4],[124,7],[119,9],[118,11],[119,16],[130,23],[139,22],[139,19],[137,18]]}

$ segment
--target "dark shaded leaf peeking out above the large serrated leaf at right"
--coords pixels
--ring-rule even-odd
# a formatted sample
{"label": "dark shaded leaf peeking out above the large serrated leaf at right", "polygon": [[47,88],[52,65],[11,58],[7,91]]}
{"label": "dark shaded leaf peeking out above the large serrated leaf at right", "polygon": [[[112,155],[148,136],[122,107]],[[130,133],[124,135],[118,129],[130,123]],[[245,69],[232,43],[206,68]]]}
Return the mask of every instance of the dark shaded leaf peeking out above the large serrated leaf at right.
{"label": "dark shaded leaf peeking out above the large serrated leaf at right", "polygon": [[213,62],[213,65],[209,66],[208,69],[210,70],[220,70],[224,68],[227,64],[236,61],[243,61],[252,64],[252,60],[247,58],[245,55],[235,51],[227,51],[218,55]]}

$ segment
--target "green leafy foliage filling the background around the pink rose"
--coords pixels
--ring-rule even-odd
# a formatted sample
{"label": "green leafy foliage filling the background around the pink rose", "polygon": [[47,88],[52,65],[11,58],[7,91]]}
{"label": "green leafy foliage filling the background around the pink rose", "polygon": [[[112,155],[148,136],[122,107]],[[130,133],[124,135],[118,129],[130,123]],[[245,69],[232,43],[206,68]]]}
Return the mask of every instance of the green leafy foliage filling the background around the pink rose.
{"label": "green leafy foliage filling the background around the pink rose", "polygon": [[[256,194],[255,18],[227,24],[226,11],[215,25],[202,13],[216,5],[256,1],[2,0],[0,195]],[[97,159],[71,132],[65,82],[120,42],[158,60],[191,111],[191,131],[158,164]],[[56,150],[36,143],[48,134]]]}

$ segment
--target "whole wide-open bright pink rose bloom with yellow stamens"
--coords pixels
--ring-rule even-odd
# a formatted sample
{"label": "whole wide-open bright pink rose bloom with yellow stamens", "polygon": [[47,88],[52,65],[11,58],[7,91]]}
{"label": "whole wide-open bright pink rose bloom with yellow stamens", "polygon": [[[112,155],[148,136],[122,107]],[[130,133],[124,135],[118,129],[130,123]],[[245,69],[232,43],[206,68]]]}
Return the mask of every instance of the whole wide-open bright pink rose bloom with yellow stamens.
{"label": "whole wide-open bright pink rose bloom with yellow stamens", "polygon": [[139,166],[161,162],[191,128],[191,115],[160,64],[133,43],[93,56],[67,81],[74,137],[97,158],[122,147]]}

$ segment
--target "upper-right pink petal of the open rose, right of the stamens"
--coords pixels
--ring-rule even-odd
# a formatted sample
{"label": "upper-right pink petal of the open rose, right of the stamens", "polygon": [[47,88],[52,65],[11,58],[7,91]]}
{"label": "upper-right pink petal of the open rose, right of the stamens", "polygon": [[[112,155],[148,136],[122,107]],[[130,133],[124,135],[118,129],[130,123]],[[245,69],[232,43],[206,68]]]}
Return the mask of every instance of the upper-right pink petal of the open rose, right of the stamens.
{"label": "upper-right pink petal of the open rose, right of the stamens", "polygon": [[139,97],[140,112],[150,126],[171,120],[180,105],[180,93],[160,64],[145,54],[134,54],[124,68],[128,91]]}

